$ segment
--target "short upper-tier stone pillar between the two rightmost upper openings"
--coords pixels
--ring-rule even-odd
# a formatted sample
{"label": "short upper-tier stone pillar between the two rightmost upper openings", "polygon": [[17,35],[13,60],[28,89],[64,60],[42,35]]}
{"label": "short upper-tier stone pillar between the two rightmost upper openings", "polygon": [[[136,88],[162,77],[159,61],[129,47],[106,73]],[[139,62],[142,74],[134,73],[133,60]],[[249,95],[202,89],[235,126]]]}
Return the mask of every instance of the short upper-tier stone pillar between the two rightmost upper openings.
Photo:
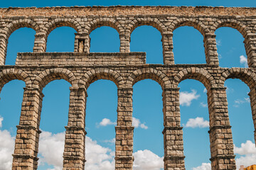
{"label": "short upper-tier stone pillar between the two rightmost upper openings", "polygon": [[203,46],[205,47],[206,64],[218,66],[216,35],[214,33],[206,33],[203,39]]}

